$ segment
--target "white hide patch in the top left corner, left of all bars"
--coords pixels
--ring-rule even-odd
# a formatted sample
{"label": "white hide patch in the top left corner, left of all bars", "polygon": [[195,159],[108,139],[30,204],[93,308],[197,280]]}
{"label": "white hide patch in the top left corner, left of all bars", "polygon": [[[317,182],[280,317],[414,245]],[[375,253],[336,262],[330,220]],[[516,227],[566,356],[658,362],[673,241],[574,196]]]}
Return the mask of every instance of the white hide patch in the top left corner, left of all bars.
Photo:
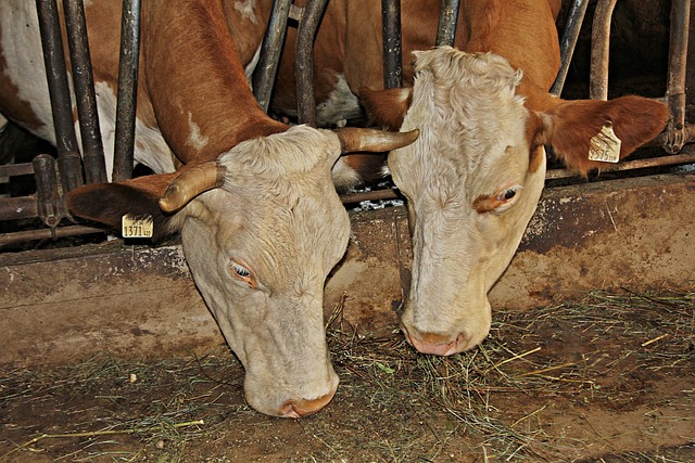
{"label": "white hide patch in the top left corner, left of all bars", "polygon": [[45,121],[31,131],[55,144],[35,2],[0,1],[0,41],[5,63],[14,64],[5,67],[5,76],[16,86],[18,97]]}

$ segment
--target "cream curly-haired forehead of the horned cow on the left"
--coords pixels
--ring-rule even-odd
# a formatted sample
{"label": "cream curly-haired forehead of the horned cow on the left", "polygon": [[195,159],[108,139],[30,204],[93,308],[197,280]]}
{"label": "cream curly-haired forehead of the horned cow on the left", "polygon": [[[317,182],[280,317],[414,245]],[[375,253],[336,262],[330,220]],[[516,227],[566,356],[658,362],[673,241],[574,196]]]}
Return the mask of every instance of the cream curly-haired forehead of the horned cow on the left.
{"label": "cream curly-haired forehead of the horned cow on the left", "polygon": [[330,179],[330,159],[339,152],[330,131],[304,127],[220,156],[225,182],[201,195],[192,214],[214,235],[222,261],[244,261],[274,291],[301,293],[317,278],[323,282],[350,235]]}

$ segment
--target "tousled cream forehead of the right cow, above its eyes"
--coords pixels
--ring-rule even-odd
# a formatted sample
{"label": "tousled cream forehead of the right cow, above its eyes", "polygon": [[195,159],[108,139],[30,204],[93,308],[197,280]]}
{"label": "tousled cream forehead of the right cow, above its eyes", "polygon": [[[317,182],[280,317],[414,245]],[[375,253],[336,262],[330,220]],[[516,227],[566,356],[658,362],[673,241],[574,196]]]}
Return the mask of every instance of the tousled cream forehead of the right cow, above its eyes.
{"label": "tousled cream forehead of the right cow, above its eyes", "polygon": [[418,127],[420,137],[389,158],[399,187],[479,194],[521,182],[529,165],[529,113],[516,94],[521,74],[492,53],[440,48],[416,56],[402,130]]}

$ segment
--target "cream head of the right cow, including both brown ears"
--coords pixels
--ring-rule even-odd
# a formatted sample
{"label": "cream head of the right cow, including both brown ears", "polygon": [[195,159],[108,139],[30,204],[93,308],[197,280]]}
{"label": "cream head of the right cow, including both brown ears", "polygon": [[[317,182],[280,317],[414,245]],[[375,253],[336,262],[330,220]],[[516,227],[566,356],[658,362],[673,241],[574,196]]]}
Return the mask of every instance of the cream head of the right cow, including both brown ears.
{"label": "cream head of the right cow, including both brown ears", "polygon": [[585,172],[601,165],[587,153],[604,126],[622,141],[624,157],[666,124],[664,104],[637,97],[563,101],[545,93],[534,95],[544,107],[529,108],[521,79],[500,55],[444,47],[416,53],[413,89],[362,91],[370,114],[420,129],[414,144],[389,155],[389,168],[407,198],[414,246],[401,324],[421,352],[451,355],[486,336],[488,292],[544,187],[544,144]]}

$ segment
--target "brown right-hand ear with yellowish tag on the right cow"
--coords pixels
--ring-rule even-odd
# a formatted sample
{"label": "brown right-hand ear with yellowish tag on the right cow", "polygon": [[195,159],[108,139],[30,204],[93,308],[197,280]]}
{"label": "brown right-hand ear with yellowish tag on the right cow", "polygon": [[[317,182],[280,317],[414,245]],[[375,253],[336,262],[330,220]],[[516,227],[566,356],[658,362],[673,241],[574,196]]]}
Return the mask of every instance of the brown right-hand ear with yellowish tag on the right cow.
{"label": "brown right-hand ear with yellowish tag on the right cow", "polygon": [[[617,146],[619,159],[658,136],[669,117],[666,104],[643,97],[616,100],[558,100],[552,110],[538,114],[541,124],[536,144],[549,144],[556,156],[582,175],[607,163],[589,158],[594,146]],[[615,133],[615,137],[612,133]]]}

